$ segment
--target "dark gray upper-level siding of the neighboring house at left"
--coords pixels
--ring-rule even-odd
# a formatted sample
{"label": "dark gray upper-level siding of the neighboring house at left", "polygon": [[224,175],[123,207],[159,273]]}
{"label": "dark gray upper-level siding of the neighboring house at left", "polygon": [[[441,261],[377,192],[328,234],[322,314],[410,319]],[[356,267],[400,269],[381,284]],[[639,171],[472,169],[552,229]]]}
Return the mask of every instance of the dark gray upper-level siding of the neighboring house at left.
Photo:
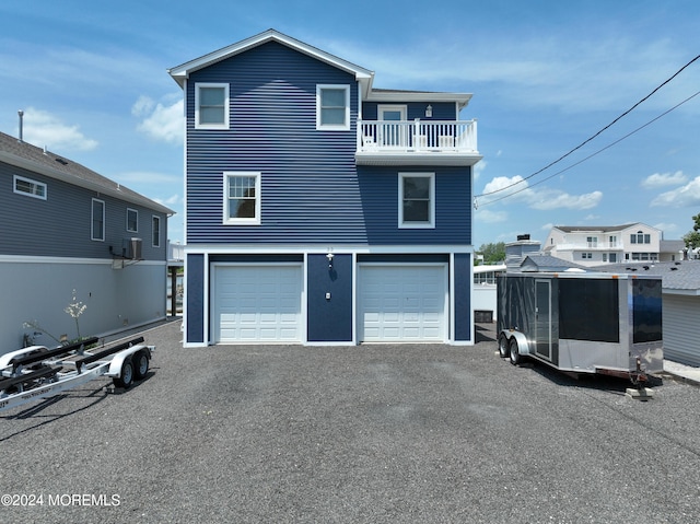
{"label": "dark gray upper-level siding of the neighboring house at left", "polygon": [[[47,185],[42,200],[13,191],[13,175]],[[92,199],[105,202],[105,241],[91,240]],[[138,232],[127,231],[127,208],[139,212]],[[153,216],[161,218],[161,246],[152,247]],[[110,258],[109,246],[121,252],[122,240],[140,237],[142,256],[165,260],[167,217],[144,207],[106,197],[31,171],[0,162],[0,254],[45,257]]]}

